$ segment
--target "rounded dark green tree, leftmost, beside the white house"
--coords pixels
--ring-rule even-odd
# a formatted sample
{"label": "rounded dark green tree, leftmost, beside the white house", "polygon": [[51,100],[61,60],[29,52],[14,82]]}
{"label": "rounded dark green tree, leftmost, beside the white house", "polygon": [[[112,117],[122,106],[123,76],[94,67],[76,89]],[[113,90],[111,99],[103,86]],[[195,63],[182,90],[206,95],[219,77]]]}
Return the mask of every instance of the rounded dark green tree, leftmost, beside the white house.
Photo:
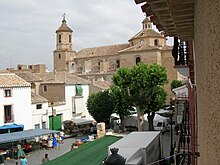
{"label": "rounded dark green tree, leftmost, beside the white house", "polygon": [[97,122],[105,122],[109,126],[110,116],[114,110],[109,91],[91,94],[87,100],[87,109]]}

